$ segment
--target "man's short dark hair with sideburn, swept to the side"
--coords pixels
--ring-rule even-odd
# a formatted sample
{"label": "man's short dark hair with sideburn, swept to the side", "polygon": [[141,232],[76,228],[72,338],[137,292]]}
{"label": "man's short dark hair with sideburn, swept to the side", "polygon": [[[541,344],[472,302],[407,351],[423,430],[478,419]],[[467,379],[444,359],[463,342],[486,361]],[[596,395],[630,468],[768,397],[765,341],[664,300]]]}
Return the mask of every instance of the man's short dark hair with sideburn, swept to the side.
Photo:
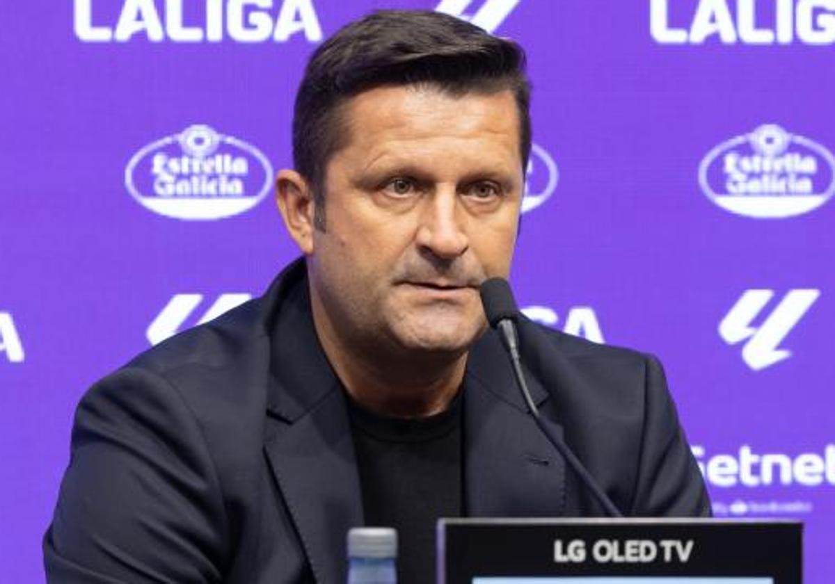
{"label": "man's short dark hair with sideburn, swept to the side", "polygon": [[[523,169],[531,144],[524,50],[459,18],[428,10],[380,10],[347,24],[312,54],[296,94],[293,163],[324,209],[325,171],[345,145],[340,106],[383,85],[428,84],[445,93],[514,93]],[[316,227],[324,229],[324,214]]]}

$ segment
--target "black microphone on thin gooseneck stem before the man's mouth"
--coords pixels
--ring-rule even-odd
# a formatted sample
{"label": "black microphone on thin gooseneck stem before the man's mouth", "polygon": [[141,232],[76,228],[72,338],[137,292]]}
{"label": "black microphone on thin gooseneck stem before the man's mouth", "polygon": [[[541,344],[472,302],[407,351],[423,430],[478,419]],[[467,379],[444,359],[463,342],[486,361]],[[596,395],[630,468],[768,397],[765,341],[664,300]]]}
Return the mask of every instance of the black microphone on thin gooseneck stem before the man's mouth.
{"label": "black microphone on thin gooseneck stem before the man's mouth", "polygon": [[513,365],[516,383],[519,385],[519,390],[522,391],[525,402],[528,404],[528,409],[531,415],[534,416],[536,425],[539,430],[545,435],[548,441],[554,445],[554,448],[559,451],[566,462],[568,462],[574,474],[579,476],[580,481],[595,496],[595,499],[603,506],[604,510],[610,517],[622,517],[618,508],[610,500],[608,496],[600,489],[595,479],[585,470],[583,463],[581,463],[574,452],[569,449],[559,435],[556,435],[553,430],[545,424],[539,409],[534,404],[534,399],[528,390],[528,384],[524,380],[524,372],[522,370],[522,357],[519,353],[519,335],[516,332],[516,321],[519,320],[519,309],[516,307],[516,300],[514,300],[513,291],[510,289],[510,284],[504,278],[490,278],[483,281],[481,284],[481,302],[484,307],[484,315],[487,316],[487,321],[493,329],[498,330],[498,335],[502,339],[502,344],[510,356],[511,365]]}

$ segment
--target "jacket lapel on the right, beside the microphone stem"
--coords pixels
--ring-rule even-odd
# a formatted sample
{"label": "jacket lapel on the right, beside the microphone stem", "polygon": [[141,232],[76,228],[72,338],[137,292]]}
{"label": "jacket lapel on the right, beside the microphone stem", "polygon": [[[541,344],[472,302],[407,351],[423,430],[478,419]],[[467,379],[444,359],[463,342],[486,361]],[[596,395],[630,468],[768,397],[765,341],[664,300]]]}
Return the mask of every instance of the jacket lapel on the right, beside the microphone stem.
{"label": "jacket lapel on the right, beside the microphone stem", "polygon": [[[549,393],[525,380],[541,405]],[[509,357],[488,331],[468,360],[464,398],[464,485],[468,516],[562,516],[564,461],[529,415]],[[562,427],[549,423],[558,435]]]}

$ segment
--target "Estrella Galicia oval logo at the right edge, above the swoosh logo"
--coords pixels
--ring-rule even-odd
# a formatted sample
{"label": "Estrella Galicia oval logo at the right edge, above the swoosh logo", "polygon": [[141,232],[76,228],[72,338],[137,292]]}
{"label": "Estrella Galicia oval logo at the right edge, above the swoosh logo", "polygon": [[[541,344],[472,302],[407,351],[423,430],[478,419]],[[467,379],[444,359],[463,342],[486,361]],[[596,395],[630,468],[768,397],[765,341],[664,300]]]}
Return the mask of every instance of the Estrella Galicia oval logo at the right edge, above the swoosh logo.
{"label": "Estrella Galicia oval logo at the right edge, above the swoosh logo", "polygon": [[699,165],[702,191],[722,209],[755,219],[808,213],[835,192],[835,157],[775,123],[712,149]]}

